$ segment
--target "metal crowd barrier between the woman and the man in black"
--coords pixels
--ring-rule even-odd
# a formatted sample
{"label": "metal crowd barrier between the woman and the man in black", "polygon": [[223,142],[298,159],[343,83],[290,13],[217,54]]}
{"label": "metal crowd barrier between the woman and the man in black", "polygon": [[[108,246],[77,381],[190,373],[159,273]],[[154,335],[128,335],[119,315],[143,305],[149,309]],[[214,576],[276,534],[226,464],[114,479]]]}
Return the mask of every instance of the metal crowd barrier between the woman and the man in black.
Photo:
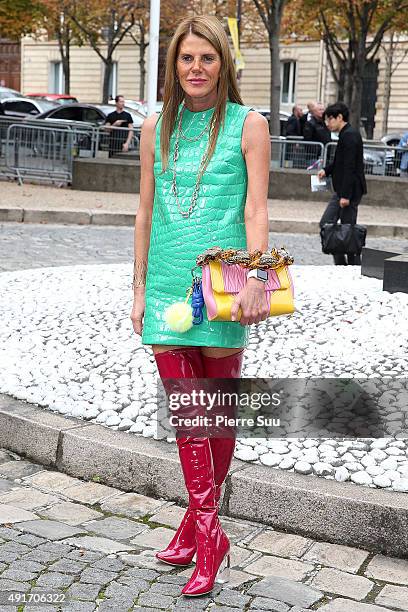
{"label": "metal crowd barrier between the woman and the man in black", "polygon": [[271,137],[272,168],[307,170],[323,161],[324,146],[320,142]]}

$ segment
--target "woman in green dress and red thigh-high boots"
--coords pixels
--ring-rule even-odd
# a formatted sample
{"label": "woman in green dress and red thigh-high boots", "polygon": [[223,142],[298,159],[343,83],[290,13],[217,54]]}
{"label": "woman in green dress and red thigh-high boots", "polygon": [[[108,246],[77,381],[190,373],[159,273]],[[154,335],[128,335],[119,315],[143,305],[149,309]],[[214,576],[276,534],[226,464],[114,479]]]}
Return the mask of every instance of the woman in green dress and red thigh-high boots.
{"label": "woman in green dress and red thigh-high boots", "polygon": [[[164,314],[186,299],[196,256],[210,246],[268,248],[268,124],[243,105],[228,39],[215,17],[179,24],[167,52],[163,111],[144,121],[140,159],[134,330],[152,345],[163,379],[238,378],[248,326],[268,315],[262,281],[247,279],[235,299],[235,321],[209,322],[204,309],[201,324],[178,333]],[[211,591],[223,562],[229,566],[218,503],[235,439],[183,435],[176,441],[189,506],[157,557],[183,566],[196,553],[182,593],[201,595]]]}

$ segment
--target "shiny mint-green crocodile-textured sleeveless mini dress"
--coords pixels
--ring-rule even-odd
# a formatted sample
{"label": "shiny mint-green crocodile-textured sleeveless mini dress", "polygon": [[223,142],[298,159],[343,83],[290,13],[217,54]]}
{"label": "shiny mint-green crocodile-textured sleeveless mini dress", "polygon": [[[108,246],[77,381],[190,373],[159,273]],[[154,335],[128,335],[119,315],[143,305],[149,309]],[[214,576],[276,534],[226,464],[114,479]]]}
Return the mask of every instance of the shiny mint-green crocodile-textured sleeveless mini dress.
{"label": "shiny mint-green crocodile-textured sleeveless mini dress", "polygon": [[[181,105],[179,106],[179,113]],[[198,136],[207,125],[213,108],[193,112],[185,108],[184,134]],[[169,164],[161,173],[160,127],[156,126],[154,160],[155,195],[145,289],[143,344],[244,347],[249,326],[238,321],[203,321],[188,331],[174,332],[166,324],[164,311],[170,304],[185,301],[191,286],[195,260],[211,246],[246,248],[244,208],[247,195],[247,170],[241,152],[242,128],[250,107],[227,101],[225,123],[221,126],[214,154],[201,179],[196,205],[183,217],[171,191],[173,151],[176,130],[170,139]],[[180,138],[177,160],[177,193],[181,209],[191,203],[200,161],[208,143],[208,131],[196,141]],[[201,268],[195,273],[200,276]],[[191,304],[191,298],[189,299]]]}

